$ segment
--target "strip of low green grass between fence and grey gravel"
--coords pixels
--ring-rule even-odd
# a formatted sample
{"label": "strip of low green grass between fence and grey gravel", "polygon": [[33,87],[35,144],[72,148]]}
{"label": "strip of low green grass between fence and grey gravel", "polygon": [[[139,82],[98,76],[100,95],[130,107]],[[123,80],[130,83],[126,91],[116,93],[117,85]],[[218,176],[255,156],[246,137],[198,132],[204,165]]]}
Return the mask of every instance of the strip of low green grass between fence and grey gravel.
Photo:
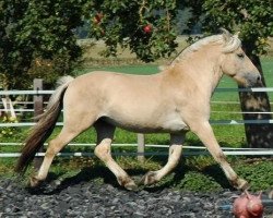
{"label": "strip of low green grass between fence and grey gravel", "polygon": [[[167,157],[147,158],[144,162],[131,157],[116,157],[117,162],[138,183],[145,172],[161,169]],[[0,177],[15,178],[13,166],[15,158],[0,159]],[[272,159],[242,159],[228,158],[235,171],[250,182],[250,191],[270,190],[273,185]],[[20,178],[26,185],[28,175],[34,173],[31,167],[25,177]],[[97,185],[110,183],[119,186],[114,174],[97,158],[55,158],[50,167],[47,183],[58,179],[64,186],[75,185],[81,182],[95,182]],[[216,192],[223,189],[233,189],[218,165],[211,157],[188,157],[177,166],[174,172],[152,186],[140,186],[147,191],[162,189],[185,190],[194,192]]]}

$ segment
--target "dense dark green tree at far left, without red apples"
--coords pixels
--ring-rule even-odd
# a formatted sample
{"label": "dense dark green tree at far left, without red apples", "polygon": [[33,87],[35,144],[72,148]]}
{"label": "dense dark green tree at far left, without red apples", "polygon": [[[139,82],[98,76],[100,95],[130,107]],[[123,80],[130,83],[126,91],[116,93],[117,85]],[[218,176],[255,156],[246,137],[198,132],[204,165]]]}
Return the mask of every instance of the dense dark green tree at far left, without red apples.
{"label": "dense dark green tree at far left, without red apples", "polygon": [[[59,74],[81,55],[73,29],[82,22],[85,0],[0,0],[0,76],[5,88],[24,88],[32,81],[35,59],[61,57]],[[46,75],[45,75],[46,76]]]}

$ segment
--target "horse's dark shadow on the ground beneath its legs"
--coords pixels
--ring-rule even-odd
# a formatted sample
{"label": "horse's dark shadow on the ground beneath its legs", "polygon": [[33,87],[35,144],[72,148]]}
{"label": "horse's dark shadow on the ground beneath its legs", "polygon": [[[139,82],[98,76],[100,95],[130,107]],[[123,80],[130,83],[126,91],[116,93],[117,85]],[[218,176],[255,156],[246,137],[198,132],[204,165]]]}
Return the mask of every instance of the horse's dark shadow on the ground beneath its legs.
{"label": "horse's dark shadow on the ground beneath its legs", "polygon": [[[158,161],[165,162],[162,158],[158,159]],[[132,177],[136,184],[141,180],[141,178],[147,172],[144,169],[127,169],[126,171],[130,177]],[[140,185],[139,191],[145,190],[152,193],[161,192],[165,189],[177,187],[183,180],[185,174],[190,171],[200,172],[204,175],[213,178],[215,182],[217,182],[223,189],[233,189],[218,165],[212,165],[200,171],[194,166],[187,166],[185,161],[181,161],[179,166],[177,166],[176,170],[171,174],[167,175],[163,181],[151,186]],[[95,183],[96,185],[110,184],[116,189],[124,190],[124,187],[118,184],[116,177],[105,166],[85,167],[82,168],[76,174],[72,177],[66,177],[62,180],[60,180],[60,177],[62,175],[51,172],[48,174],[47,180],[40,187],[28,187],[27,190],[33,194],[51,195],[58,194],[68,187],[76,186],[79,184],[88,182],[93,184]]]}

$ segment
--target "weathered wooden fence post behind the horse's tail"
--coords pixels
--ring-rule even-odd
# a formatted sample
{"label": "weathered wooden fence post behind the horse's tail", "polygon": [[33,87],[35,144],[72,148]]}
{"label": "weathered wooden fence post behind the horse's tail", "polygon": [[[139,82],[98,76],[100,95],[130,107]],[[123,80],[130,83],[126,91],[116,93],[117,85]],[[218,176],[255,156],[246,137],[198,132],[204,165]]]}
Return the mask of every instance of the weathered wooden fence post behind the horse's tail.
{"label": "weathered wooden fence post behind the horse's tail", "polygon": [[[37,92],[36,95],[33,96],[34,101],[34,118],[35,122],[38,122],[37,116],[41,114],[44,112],[44,100],[43,95],[40,95],[38,92],[43,90],[43,80],[41,78],[34,78],[33,81],[33,89]],[[39,153],[43,152],[44,146],[38,150]],[[34,168],[36,170],[39,169],[41,165],[41,157],[35,157],[34,158]]]}

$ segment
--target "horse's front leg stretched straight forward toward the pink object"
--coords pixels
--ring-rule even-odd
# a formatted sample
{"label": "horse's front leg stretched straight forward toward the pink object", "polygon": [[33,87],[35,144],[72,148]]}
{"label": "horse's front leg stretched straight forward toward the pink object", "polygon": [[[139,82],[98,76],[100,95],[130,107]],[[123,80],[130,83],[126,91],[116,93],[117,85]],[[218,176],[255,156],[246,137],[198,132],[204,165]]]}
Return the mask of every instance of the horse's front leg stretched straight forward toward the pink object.
{"label": "horse's front leg stretched straight forward toward the pink object", "polygon": [[190,128],[191,131],[195,133],[202,141],[202,143],[206,146],[213,158],[219,164],[229,182],[239,190],[246,190],[247,187],[249,187],[248,182],[244,179],[240,179],[227,162],[226,156],[221,149],[209,121],[195,121],[190,125]]}

